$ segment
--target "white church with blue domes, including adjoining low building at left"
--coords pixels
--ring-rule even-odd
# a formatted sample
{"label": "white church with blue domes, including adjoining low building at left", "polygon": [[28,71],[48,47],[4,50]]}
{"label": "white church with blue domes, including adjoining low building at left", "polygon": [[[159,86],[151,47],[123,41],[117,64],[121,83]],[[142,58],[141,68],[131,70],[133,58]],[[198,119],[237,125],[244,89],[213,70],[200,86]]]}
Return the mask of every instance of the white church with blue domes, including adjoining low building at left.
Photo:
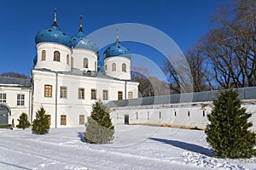
{"label": "white church with blue domes, including adjoining low building at left", "polygon": [[43,106],[50,127],[84,127],[97,99],[107,103],[137,98],[139,83],[131,81],[130,50],[117,35],[104,51],[104,67],[99,68],[98,48],[84,35],[81,20],[77,34],[68,37],[57,25],[55,12],[52,26],[35,37],[31,82],[1,77],[0,124],[17,125],[22,112],[32,122]]}

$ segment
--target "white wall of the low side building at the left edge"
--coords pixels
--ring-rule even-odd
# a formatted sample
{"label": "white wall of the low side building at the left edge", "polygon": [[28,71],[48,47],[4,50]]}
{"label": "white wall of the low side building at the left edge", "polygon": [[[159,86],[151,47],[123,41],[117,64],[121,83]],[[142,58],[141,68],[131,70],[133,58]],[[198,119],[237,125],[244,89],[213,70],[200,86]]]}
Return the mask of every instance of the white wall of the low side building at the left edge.
{"label": "white wall of the low side building at the left edge", "polygon": [[[30,88],[15,87],[15,85],[4,85],[0,87],[0,93],[6,94],[6,105],[8,105],[11,110],[11,115],[9,115],[9,124],[12,124],[12,120],[14,119],[16,126],[19,123],[18,119],[22,112],[26,113],[28,117],[30,116]],[[24,105],[17,105],[17,94],[25,94]]]}

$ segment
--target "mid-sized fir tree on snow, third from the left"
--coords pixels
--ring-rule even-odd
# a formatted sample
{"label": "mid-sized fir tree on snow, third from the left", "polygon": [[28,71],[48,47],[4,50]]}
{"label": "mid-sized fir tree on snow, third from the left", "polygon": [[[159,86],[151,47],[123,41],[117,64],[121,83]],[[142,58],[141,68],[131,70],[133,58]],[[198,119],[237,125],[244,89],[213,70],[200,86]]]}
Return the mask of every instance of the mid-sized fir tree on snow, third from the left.
{"label": "mid-sized fir tree on snow, third from the left", "polygon": [[107,144],[113,140],[114,127],[108,106],[102,101],[92,105],[92,111],[85,124],[84,139],[91,144]]}

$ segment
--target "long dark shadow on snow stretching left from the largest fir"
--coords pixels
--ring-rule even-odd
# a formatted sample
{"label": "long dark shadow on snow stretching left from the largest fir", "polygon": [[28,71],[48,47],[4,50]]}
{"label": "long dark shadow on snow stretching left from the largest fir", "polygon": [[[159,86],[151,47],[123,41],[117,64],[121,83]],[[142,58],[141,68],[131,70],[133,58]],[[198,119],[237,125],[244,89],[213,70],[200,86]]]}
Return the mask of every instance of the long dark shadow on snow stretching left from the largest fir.
{"label": "long dark shadow on snow stretching left from the largest fir", "polygon": [[181,148],[183,150],[194,151],[194,152],[203,154],[205,156],[213,156],[212,150],[204,148],[200,145],[189,144],[189,143],[185,143],[185,142],[181,142],[181,141],[177,141],[177,140],[170,140],[170,139],[157,139],[157,138],[149,138],[149,139],[155,140],[155,141],[158,141],[158,142],[161,142],[164,144],[171,144],[171,145]]}

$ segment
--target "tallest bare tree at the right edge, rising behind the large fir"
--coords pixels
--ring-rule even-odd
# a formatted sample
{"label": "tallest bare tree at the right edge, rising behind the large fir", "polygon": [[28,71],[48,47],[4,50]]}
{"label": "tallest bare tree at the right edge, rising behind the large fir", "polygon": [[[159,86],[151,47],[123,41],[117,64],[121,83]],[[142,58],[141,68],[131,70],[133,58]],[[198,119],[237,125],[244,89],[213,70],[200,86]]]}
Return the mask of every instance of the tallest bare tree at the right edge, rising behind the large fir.
{"label": "tallest bare tree at the right edge, rising behind the large fir", "polygon": [[256,2],[236,0],[213,15],[204,51],[222,88],[256,85]]}

